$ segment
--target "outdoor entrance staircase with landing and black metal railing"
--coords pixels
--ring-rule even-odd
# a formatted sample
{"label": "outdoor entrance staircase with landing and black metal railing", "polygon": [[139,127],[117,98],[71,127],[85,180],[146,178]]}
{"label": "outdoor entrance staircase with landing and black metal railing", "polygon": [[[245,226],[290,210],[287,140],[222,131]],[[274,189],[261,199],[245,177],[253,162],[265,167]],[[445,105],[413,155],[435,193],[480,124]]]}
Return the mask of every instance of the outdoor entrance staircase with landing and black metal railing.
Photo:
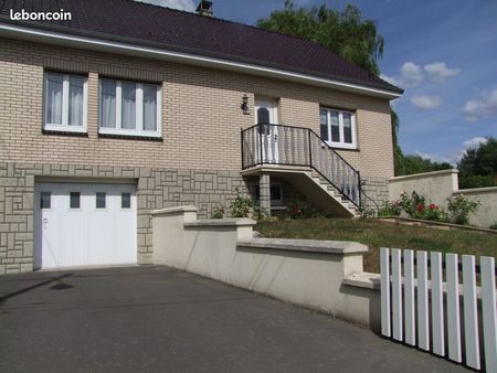
{"label": "outdoor entrance staircase with landing and black metal railing", "polygon": [[309,128],[260,124],[242,130],[244,173],[278,174],[325,212],[359,215],[360,173]]}

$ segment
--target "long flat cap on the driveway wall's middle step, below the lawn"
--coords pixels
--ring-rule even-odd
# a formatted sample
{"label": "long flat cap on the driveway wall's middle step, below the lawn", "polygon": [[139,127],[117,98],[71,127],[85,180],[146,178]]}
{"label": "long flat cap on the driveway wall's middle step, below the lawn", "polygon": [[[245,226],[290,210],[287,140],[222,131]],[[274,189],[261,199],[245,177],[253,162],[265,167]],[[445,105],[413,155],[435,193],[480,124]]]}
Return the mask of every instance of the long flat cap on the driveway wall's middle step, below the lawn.
{"label": "long flat cap on the driveway wall's middle step, below the lawn", "polygon": [[357,242],[286,238],[243,239],[239,241],[236,246],[325,254],[356,254],[369,251],[368,246]]}

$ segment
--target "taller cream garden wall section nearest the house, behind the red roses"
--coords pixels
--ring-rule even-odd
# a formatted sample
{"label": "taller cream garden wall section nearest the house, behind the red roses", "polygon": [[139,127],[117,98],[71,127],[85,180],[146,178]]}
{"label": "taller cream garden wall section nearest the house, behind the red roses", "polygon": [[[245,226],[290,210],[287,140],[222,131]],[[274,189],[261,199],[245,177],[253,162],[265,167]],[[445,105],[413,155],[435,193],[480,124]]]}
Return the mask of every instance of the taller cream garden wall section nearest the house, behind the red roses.
{"label": "taller cream garden wall section nearest the house, behind the red roses", "polygon": [[389,180],[389,199],[396,201],[402,192],[410,194],[415,191],[445,207],[447,198],[458,190],[458,172],[454,169],[392,178]]}

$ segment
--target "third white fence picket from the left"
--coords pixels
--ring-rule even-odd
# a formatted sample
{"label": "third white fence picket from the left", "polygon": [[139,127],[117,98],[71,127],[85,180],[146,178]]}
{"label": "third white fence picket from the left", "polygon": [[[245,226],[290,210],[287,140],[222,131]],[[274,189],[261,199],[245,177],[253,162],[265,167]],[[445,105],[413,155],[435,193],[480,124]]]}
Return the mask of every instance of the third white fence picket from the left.
{"label": "third white fence picket from the left", "polygon": [[405,343],[415,345],[414,253],[410,249],[404,249],[404,317]]}

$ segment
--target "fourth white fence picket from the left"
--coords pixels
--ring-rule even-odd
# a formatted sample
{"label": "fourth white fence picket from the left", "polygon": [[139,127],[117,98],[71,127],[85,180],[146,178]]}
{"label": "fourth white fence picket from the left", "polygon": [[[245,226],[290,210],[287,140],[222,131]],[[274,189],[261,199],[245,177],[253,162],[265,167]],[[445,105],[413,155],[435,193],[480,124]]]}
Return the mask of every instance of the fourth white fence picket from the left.
{"label": "fourth white fence picket from the left", "polygon": [[427,291],[427,253],[416,252],[417,270],[417,347],[430,351],[430,315]]}

